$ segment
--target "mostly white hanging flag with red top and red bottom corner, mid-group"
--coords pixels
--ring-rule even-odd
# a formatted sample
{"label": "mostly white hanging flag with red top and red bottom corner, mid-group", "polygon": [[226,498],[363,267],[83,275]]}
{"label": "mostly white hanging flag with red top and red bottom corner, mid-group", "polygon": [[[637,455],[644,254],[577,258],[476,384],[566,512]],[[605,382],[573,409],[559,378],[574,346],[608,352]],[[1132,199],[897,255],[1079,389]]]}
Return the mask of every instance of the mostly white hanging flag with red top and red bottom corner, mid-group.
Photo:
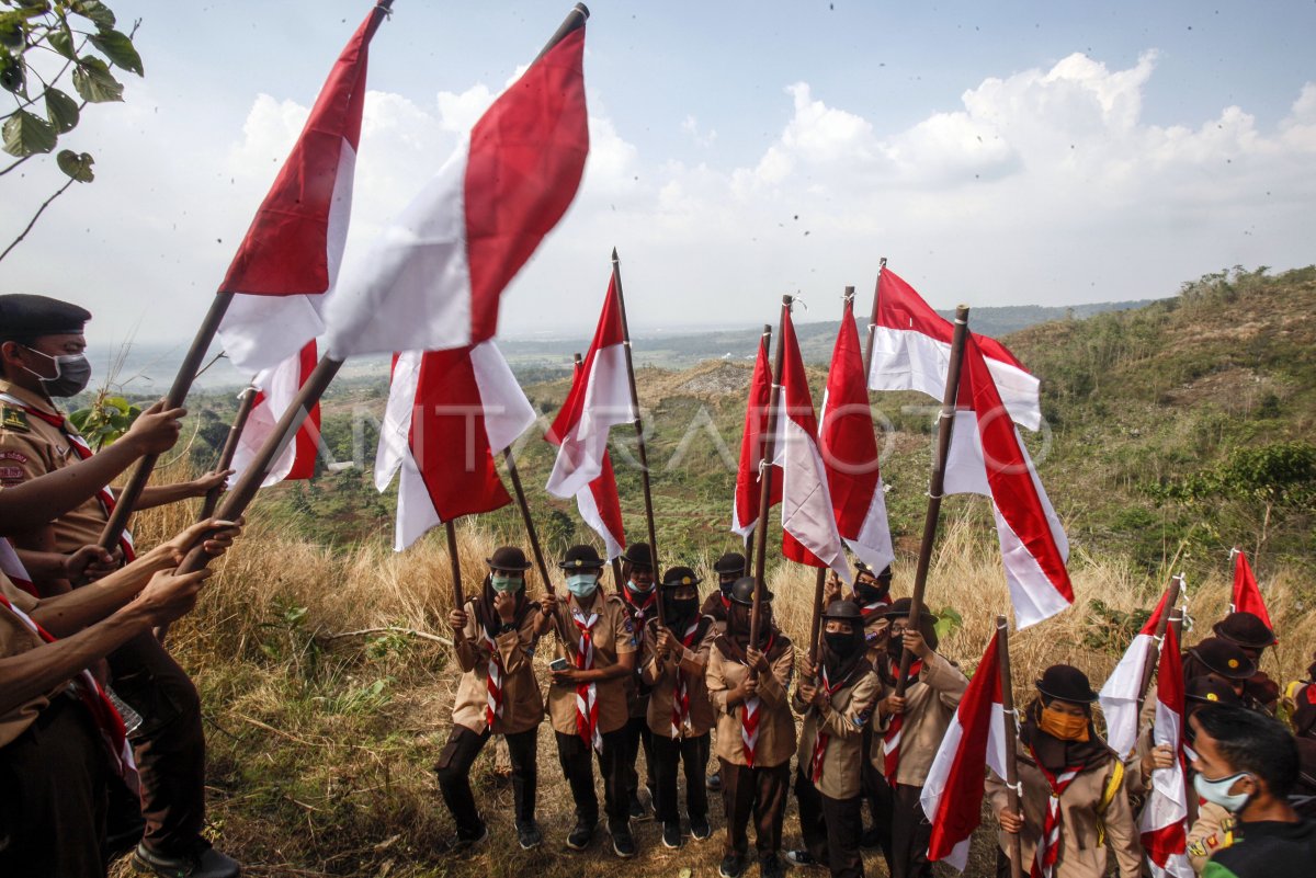
{"label": "mostly white hanging flag with red top and red bottom corner, mid-group", "polygon": [[780,333],[782,389],[772,463],[782,468],[782,555],[809,566],[829,566],[850,582],[854,577],[836,528],[813,394],[790,309],[782,312]]}

